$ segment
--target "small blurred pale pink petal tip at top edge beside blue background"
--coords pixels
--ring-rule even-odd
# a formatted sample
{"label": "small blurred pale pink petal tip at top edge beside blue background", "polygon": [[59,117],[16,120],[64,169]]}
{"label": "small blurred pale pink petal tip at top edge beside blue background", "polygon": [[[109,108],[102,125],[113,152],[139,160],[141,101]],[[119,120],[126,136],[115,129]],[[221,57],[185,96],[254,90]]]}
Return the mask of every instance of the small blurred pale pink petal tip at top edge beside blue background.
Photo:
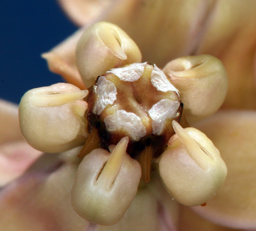
{"label": "small blurred pale pink petal tip at top edge beside blue background", "polygon": [[68,17],[78,26],[97,19],[114,0],[58,0]]}

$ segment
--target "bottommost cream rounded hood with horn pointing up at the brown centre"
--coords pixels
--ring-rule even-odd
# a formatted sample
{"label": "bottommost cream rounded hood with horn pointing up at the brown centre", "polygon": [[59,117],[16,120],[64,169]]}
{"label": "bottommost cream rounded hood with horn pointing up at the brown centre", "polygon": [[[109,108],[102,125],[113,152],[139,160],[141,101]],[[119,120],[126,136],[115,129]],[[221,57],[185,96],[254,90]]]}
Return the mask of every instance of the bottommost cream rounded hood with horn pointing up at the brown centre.
{"label": "bottommost cream rounded hood with horn pointing up at the brown centre", "polygon": [[80,163],[72,204],[85,220],[113,225],[131,205],[140,183],[141,168],[125,152],[128,141],[128,137],[122,138],[111,153],[94,149]]}

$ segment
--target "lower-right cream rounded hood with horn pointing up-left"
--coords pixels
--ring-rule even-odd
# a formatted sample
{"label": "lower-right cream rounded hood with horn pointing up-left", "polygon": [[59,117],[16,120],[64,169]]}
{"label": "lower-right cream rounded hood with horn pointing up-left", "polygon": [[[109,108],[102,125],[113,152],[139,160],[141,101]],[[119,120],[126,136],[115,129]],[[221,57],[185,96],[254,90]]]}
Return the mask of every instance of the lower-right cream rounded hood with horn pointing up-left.
{"label": "lower-right cream rounded hood with horn pointing up-left", "polygon": [[202,205],[220,189],[227,167],[218,149],[203,132],[183,129],[172,122],[176,132],[160,156],[159,171],[170,194],[181,204]]}

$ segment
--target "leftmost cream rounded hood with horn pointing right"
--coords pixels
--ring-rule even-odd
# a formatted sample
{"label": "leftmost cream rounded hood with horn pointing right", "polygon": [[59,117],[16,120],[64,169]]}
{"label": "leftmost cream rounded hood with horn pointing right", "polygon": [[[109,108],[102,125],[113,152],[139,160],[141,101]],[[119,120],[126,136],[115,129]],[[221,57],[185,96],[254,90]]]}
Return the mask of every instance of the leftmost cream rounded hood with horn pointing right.
{"label": "leftmost cream rounded hood with horn pointing right", "polygon": [[88,91],[67,83],[31,89],[21,98],[20,129],[34,148],[63,152],[85,142]]}

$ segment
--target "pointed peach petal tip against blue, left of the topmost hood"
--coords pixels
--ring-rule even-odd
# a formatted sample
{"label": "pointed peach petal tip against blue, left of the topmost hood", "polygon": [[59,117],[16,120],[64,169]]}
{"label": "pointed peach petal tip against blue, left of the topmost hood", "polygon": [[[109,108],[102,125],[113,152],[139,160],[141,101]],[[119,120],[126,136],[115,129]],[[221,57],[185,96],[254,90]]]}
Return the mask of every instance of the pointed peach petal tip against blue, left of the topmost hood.
{"label": "pointed peach petal tip against blue, left of the topmost hood", "polygon": [[79,87],[81,90],[86,89],[86,87],[76,67],[76,44],[83,32],[83,28],[76,31],[58,46],[42,54],[42,57],[47,60],[48,68],[53,73],[61,75],[68,83]]}

